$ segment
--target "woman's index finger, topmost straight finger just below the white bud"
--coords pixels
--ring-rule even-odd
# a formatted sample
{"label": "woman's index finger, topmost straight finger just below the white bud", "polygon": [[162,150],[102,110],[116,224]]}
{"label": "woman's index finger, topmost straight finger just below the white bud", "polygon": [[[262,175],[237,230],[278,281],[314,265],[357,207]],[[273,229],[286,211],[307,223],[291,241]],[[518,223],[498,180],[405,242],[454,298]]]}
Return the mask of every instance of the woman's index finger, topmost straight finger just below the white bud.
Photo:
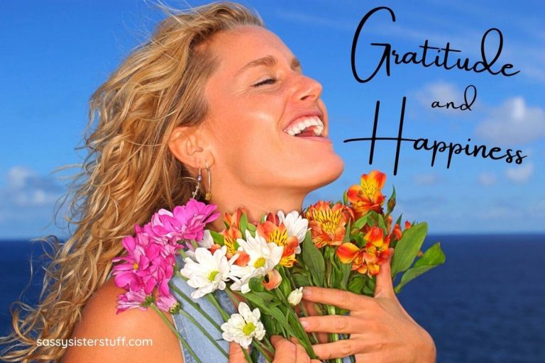
{"label": "woman's index finger, topmost straight finger just below the white bud", "polygon": [[303,289],[303,298],[307,301],[334,305],[348,310],[361,308],[363,304],[373,301],[373,298],[370,298],[369,296],[353,294],[350,291],[326,289],[324,287],[316,286],[306,286]]}

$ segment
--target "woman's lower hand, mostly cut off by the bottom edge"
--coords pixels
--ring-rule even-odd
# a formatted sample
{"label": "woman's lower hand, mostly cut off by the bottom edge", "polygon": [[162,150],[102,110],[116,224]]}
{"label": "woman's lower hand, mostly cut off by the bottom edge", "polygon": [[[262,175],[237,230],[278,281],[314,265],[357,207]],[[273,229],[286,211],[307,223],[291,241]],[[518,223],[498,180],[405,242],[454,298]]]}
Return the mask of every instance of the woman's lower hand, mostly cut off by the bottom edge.
{"label": "woman's lower hand, mostly cut off by the bottom edge", "polygon": [[[320,363],[318,359],[310,359],[304,347],[294,337],[290,341],[280,335],[272,335],[270,342],[275,347],[272,363]],[[236,342],[229,345],[229,363],[246,363],[244,352]]]}

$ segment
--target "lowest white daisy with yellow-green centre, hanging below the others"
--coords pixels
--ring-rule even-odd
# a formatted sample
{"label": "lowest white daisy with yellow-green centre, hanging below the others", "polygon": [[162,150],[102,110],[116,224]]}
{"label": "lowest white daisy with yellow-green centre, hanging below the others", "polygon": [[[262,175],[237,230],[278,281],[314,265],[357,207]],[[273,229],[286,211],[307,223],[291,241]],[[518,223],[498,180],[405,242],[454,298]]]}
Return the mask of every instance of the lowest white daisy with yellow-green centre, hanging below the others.
{"label": "lowest white daisy with yellow-green centre, hanging below the others", "polygon": [[250,310],[246,303],[238,304],[238,314],[234,313],[227,323],[221,325],[221,334],[224,340],[228,342],[236,342],[241,347],[246,349],[252,344],[255,337],[257,340],[262,340],[265,337],[265,328],[259,320],[261,313],[258,308]]}

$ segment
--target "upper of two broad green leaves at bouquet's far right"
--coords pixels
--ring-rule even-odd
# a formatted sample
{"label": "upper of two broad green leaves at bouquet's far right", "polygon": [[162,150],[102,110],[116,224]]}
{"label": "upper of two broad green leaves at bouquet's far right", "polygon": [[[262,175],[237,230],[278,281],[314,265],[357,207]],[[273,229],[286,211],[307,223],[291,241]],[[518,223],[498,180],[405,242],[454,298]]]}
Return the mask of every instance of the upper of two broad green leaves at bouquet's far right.
{"label": "upper of two broad green leaves at bouquet's far right", "polygon": [[412,225],[404,231],[403,237],[395,245],[394,257],[392,257],[392,277],[411,267],[414,258],[422,248],[427,233],[428,225],[425,222]]}

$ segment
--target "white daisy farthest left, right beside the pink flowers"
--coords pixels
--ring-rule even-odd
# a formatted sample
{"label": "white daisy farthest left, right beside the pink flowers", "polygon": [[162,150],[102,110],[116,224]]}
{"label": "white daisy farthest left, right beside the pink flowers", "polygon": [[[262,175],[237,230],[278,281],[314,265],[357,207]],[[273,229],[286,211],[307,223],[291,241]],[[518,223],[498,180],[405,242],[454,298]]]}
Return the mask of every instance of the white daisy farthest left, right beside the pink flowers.
{"label": "white daisy farthest left, right beside the pink flowers", "polygon": [[207,248],[197,247],[196,261],[189,257],[184,259],[185,266],[180,273],[189,279],[187,280],[189,286],[197,289],[191,293],[192,298],[200,298],[217,289],[225,289],[225,281],[229,279],[231,269],[231,264],[225,256],[226,252],[226,246],[216,250],[214,255]]}

